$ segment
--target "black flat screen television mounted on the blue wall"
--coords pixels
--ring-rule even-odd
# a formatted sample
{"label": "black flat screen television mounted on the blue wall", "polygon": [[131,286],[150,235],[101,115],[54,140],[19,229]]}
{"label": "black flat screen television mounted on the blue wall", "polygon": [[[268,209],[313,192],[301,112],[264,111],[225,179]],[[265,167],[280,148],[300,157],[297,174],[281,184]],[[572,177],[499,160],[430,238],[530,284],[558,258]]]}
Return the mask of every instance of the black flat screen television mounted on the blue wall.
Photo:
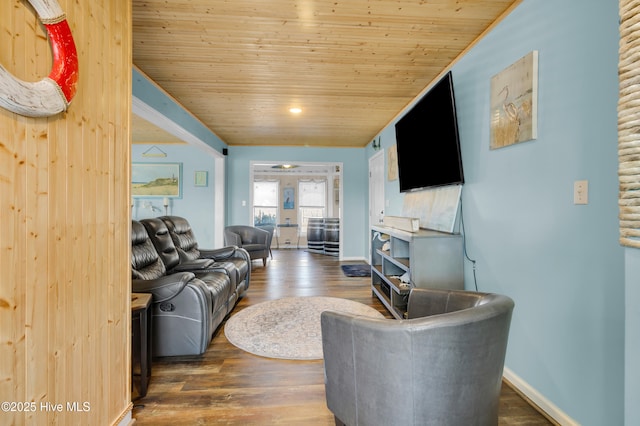
{"label": "black flat screen television mounted on the blue wall", "polygon": [[464,183],[451,71],[395,128],[400,192]]}

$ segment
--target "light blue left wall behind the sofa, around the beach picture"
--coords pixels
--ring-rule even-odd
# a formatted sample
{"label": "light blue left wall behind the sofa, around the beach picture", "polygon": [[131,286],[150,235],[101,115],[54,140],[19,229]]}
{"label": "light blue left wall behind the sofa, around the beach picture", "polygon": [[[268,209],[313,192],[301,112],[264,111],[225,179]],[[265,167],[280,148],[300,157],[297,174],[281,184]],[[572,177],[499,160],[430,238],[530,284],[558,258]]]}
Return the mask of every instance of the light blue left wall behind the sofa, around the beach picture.
{"label": "light blue left wall behind the sofa, around the beach picture", "polygon": [[[194,230],[198,245],[202,248],[214,248],[214,160],[211,154],[191,145],[156,145],[167,153],[164,158],[143,157],[142,153],[153,145],[135,144],[131,146],[133,163],[182,163],[182,197],[172,198],[168,213],[185,217]],[[157,152],[157,151],[152,151]],[[208,172],[207,186],[195,186],[195,172]],[[152,203],[158,210],[143,208],[145,203]],[[162,198],[135,198],[135,206],[131,211],[133,219],[164,215]]]}

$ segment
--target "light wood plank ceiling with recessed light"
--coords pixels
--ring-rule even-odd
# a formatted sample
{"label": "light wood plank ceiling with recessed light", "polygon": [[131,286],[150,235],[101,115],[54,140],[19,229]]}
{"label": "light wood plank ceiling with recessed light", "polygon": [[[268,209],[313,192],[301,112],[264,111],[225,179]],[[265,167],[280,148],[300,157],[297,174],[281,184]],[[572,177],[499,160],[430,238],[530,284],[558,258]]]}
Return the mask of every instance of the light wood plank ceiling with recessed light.
{"label": "light wood plank ceiling with recessed light", "polygon": [[133,61],[230,146],[363,147],[519,3],[133,0]]}

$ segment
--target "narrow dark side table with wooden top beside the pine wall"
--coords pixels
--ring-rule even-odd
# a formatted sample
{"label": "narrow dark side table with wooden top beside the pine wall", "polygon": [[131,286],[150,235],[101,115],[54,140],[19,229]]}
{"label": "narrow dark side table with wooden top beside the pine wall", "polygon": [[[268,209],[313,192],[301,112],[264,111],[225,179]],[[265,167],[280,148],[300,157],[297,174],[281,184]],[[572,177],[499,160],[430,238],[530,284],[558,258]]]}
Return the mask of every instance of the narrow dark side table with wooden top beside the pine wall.
{"label": "narrow dark side table with wooden top beside the pine wall", "polygon": [[138,398],[147,394],[151,377],[151,294],[131,294],[131,389],[136,377],[140,378]]}

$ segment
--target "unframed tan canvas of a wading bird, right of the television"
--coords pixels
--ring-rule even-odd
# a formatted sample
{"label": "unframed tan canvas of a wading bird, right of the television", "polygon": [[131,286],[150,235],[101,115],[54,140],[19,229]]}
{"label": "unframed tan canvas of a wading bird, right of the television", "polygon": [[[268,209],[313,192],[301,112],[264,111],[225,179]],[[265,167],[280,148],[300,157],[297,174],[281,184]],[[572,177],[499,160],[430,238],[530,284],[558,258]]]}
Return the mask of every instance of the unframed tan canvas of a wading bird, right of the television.
{"label": "unframed tan canvas of a wading bird, right of the television", "polygon": [[491,149],[538,137],[538,51],[491,78]]}

